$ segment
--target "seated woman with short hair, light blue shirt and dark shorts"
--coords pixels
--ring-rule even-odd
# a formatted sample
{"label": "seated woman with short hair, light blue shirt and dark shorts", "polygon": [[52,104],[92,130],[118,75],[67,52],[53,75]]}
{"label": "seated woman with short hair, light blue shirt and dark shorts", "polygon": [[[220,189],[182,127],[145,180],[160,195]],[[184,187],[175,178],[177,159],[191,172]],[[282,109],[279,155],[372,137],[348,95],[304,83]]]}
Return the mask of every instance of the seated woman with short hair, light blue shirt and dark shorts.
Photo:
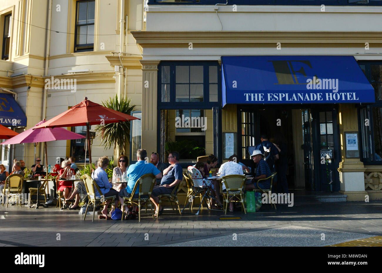
{"label": "seated woman with short hair, light blue shirt and dark shorts", "polygon": [[[107,178],[107,173],[105,170],[107,169],[107,166],[109,164],[109,159],[107,156],[101,156],[98,159],[98,168],[95,169],[95,171],[92,173],[92,178],[94,179],[95,183],[99,186],[99,189],[101,190],[101,193],[96,192],[95,196],[100,197],[100,194],[102,194],[105,197],[115,196],[115,207],[118,206],[118,191],[113,189],[113,184],[109,182]],[[107,207],[109,205],[110,201],[106,202],[106,205],[104,206],[104,209],[101,211],[102,215],[99,215],[99,219],[107,219],[110,220],[111,217],[107,215]],[[112,207],[112,210],[110,211],[110,214],[112,214],[114,210],[114,207]]]}

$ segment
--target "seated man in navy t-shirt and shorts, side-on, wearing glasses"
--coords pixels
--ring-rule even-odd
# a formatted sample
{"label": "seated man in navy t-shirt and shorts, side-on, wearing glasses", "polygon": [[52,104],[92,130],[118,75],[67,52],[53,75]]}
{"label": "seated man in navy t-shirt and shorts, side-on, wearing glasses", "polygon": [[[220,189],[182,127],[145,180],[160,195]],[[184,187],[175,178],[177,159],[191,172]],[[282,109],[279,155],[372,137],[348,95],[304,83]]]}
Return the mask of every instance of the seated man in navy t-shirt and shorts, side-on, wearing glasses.
{"label": "seated man in navy t-shirt and shorts, side-on, wearing glasses", "polygon": [[[168,163],[171,165],[163,170],[163,177],[160,181],[159,186],[154,186],[151,193],[151,201],[155,204],[157,213],[162,215],[163,207],[159,206],[159,195],[161,194],[171,194],[174,187],[178,185],[183,180],[183,168],[179,165],[179,153],[171,152],[168,155]],[[161,209],[162,208],[162,209]]]}

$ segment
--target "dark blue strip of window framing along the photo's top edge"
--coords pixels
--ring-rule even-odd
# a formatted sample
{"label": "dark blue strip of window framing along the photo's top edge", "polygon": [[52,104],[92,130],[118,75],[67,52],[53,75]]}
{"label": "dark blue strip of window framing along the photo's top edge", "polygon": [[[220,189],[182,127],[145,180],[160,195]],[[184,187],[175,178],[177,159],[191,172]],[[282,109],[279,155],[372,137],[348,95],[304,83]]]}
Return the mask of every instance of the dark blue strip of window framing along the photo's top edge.
{"label": "dark blue strip of window framing along the photo's top edge", "polygon": [[[382,1],[369,0],[369,3],[349,3],[354,0],[228,0],[228,6],[232,5],[309,5],[320,6],[382,6]],[[149,5],[215,5],[225,4],[221,0],[177,0],[177,2],[160,2],[160,0],[149,0]]]}

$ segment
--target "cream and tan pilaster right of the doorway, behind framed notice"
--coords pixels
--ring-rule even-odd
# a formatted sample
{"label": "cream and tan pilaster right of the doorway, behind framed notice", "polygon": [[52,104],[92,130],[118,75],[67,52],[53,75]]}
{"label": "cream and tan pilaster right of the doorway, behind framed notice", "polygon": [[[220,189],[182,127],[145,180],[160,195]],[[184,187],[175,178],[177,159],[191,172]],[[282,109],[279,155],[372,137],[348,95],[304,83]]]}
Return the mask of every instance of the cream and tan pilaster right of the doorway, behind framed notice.
{"label": "cream and tan pilaster right of the doorway, behind framed notice", "polygon": [[[347,201],[364,201],[366,168],[359,158],[345,157],[345,132],[358,132],[358,115],[354,104],[340,104],[340,145],[341,159],[338,171],[340,172],[340,193],[346,194]],[[360,141],[358,139],[358,141]]]}

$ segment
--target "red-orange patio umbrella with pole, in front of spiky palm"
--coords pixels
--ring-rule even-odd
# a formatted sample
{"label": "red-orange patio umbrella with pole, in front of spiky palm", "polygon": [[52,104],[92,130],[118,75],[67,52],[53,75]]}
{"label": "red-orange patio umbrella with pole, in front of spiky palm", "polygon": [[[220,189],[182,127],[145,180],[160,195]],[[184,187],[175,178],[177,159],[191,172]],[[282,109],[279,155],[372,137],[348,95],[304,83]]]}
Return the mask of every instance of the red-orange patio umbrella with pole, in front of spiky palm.
{"label": "red-orange patio umbrella with pole, in front of spiky palm", "polygon": [[54,128],[54,127],[72,127],[86,126],[87,146],[89,149],[89,163],[92,164],[91,148],[90,148],[90,125],[108,124],[115,122],[125,122],[128,120],[138,119],[110,108],[104,107],[98,103],[89,101],[87,97],[79,104],[74,105],[68,111],[53,117],[44,124],[36,126],[36,128]]}

